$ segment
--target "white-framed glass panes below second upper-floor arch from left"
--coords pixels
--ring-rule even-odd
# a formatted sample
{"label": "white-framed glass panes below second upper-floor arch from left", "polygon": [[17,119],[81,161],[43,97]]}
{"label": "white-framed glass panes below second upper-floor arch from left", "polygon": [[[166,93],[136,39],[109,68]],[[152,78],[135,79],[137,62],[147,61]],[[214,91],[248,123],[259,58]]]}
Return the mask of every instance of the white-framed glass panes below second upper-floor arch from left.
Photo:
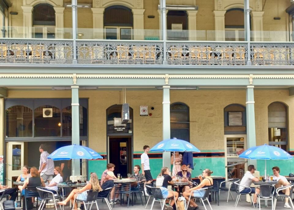
{"label": "white-framed glass panes below second upper-floor arch from left", "polygon": [[133,38],[132,29],[130,26],[105,26],[104,39],[131,40]]}

